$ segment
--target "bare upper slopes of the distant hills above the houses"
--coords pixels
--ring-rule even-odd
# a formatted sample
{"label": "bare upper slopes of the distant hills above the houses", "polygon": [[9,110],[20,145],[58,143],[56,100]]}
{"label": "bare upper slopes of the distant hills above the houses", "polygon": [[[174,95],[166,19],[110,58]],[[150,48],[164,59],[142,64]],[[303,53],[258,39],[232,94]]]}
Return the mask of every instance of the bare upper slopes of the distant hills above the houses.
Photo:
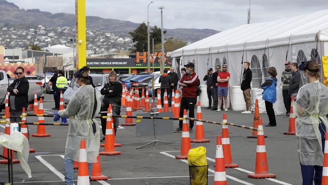
{"label": "bare upper slopes of the distant hills above the houses", "polygon": [[[67,13],[51,14],[39,9],[25,10],[14,3],[0,0],[0,25],[10,24],[35,24],[45,27],[74,27],[75,15]],[[87,27],[115,33],[119,36],[128,36],[130,31],[135,30],[140,24],[117,19],[103,19],[95,16],[86,17]],[[165,29],[165,37],[176,37],[185,42],[195,42],[208,37],[219,31],[212,29]]]}

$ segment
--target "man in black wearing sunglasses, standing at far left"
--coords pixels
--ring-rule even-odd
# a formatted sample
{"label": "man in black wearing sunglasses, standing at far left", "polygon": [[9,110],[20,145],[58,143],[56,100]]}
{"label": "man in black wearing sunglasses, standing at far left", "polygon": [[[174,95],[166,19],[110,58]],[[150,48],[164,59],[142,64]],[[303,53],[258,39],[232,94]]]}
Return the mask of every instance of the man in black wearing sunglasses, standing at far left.
{"label": "man in black wearing sunglasses, standing at far left", "polygon": [[[11,116],[20,116],[22,115],[23,108],[27,110],[28,106],[28,89],[29,82],[25,78],[24,68],[18,67],[16,69],[17,79],[14,80],[12,84],[8,87],[8,92],[10,93],[9,97],[9,106],[10,106],[10,115]],[[21,118],[10,118],[11,122],[20,122]],[[19,130],[21,125],[19,125]]]}

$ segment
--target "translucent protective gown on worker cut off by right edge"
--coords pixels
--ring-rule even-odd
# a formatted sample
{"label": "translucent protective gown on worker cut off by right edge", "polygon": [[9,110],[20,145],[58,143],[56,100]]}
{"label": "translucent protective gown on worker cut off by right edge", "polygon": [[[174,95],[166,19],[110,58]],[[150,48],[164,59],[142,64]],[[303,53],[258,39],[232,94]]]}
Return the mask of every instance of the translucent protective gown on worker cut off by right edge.
{"label": "translucent protective gown on worker cut off by right edge", "polygon": [[[303,111],[303,114],[299,115],[297,110]],[[297,151],[301,164],[322,166],[323,153],[319,119],[328,129],[326,118],[328,114],[328,88],[318,80],[303,85],[298,91],[293,111],[297,116],[295,123]]]}

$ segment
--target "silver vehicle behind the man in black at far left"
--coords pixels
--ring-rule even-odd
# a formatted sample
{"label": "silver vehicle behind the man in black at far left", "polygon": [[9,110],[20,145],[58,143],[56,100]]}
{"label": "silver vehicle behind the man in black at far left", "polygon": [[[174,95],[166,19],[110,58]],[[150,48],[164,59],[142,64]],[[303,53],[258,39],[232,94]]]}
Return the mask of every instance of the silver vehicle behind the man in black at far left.
{"label": "silver vehicle behind the man in black at far left", "polygon": [[[26,76],[26,79],[29,82],[28,89],[28,101],[33,103],[34,101],[34,91],[36,91],[36,97],[38,100],[40,98],[44,99],[42,82],[38,79],[37,76]],[[4,70],[0,70],[0,112],[5,108],[5,99],[8,86],[14,81],[14,78],[7,77],[7,73]]]}

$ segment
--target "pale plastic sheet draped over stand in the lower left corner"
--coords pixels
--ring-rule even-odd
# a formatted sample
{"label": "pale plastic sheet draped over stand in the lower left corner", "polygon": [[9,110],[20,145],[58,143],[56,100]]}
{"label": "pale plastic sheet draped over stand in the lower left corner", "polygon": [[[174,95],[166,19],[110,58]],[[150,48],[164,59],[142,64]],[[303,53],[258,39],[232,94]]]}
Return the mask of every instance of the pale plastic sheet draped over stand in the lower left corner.
{"label": "pale plastic sheet draped over stand in the lower left corner", "polygon": [[14,131],[11,135],[0,132],[0,145],[7,149],[17,152],[21,166],[29,178],[32,177],[31,169],[28,166],[28,155],[30,147],[27,138],[18,131]]}

